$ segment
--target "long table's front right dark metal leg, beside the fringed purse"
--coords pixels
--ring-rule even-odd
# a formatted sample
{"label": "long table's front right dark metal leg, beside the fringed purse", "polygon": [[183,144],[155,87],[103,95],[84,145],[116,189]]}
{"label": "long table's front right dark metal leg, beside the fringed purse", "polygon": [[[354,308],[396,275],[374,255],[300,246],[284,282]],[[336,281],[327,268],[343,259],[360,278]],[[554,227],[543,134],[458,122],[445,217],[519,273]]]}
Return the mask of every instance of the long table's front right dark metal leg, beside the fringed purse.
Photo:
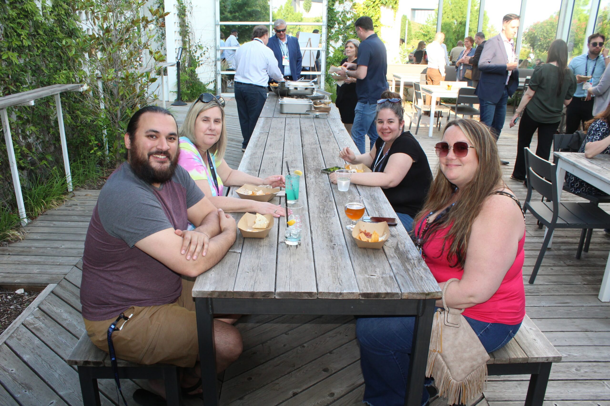
{"label": "long table's front right dark metal leg, beside the fringed purse", "polygon": [[407,392],[404,406],[419,406],[422,404],[423,381],[428,363],[428,349],[432,333],[432,315],[434,315],[435,299],[419,301],[420,310],[415,316],[415,329],[409,357],[409,375],[407,376]]}

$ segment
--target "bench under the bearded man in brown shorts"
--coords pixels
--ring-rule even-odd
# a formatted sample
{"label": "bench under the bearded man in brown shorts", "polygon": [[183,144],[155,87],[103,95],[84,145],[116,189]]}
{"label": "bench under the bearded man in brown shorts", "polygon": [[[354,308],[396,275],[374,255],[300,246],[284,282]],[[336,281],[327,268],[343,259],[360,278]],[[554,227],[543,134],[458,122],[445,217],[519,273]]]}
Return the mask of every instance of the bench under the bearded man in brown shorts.
{"label": "bench under the bearded man in brown shorts", "polygon": [[[97,348],[85,332],[74,347],[68,365],[78,367],[84,406],[99,406],[98,379],[114,379],[110,355]],[[167,364],[142,365],[117,359],[120,379],[163,379],[168,406],[182,404],[178,366]],[[129,399],[127,400],[129,402]]]}

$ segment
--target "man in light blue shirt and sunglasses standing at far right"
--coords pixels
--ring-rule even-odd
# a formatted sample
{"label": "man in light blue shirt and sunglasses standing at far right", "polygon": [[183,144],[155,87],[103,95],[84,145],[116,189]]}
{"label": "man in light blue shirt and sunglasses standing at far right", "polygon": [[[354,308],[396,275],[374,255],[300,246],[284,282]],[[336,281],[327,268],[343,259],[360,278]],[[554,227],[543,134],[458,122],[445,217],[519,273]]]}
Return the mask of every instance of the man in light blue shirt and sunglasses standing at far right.
{"label": "man in light blue shirt and sunglasses standing at far right", "polygon": [[[587,100],[587,89],[597,86],[600,82],[601,74],[606,69],[610,61],[608,52],[601,54],[606,38],[600,33],[589,35],[587,45],[589,52],[578,55],[570,61],[569,68],[576,75],[576,91],[566,110],[565,133],[573,134],[581,122],[589,121],[593,118],[594,99]],[[583,125],[584,128],[584,125]]]}

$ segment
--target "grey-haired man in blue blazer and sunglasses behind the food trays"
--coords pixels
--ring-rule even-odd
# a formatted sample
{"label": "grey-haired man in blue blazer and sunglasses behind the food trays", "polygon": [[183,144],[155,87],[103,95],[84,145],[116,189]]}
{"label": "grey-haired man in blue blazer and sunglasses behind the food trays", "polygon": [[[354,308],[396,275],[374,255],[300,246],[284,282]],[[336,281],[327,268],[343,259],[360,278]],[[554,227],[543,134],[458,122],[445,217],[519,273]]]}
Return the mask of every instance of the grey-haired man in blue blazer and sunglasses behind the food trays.
{"label": "grey-haired man in blue blazer and sunglasses behind the food trays", "polygon": [[277,19],[273,23],[275,35],[269,38],[267,46],[271,48],[275,58],[278,60],[279,70],[286,80],[298,80],[301,77],[301,47],[296,37],[286,33],[286,22]]}

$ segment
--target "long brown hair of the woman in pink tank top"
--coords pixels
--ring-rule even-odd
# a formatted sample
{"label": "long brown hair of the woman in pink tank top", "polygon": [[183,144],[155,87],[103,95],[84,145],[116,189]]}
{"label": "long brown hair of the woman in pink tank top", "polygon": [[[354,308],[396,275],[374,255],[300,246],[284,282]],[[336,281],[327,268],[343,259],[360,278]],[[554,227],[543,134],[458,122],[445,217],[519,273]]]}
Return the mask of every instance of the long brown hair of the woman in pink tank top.
{"label": "long brown hair of the woman in pink tank top", "polygon": [[[498,155],[495,138],[489,127],[471,119],[453,120],[445,125],[443,135],[448,128],[454,125],[459,127],[470,145],[475,147],[474,151],[478,156],[479,166],[472,181],[459,191],[459,198],[448,215],[433,222],[420,237],[423,242],[426,242],[436,230],[450,225],[451,228],[445,236],[441,255],[449,243],[447,259],[450,261],[451,267],[464,268],[472,224],[481,212],[485,200],[504,183],[500,169],[500,155]],[[468,153],[473,153],[472,149]],[[415,216],[414,224],[422,221],[429,212],[436,212],[447,206],[453,198],[455,189],[456,186],[445,177],[439,164],[422,211]]]}

